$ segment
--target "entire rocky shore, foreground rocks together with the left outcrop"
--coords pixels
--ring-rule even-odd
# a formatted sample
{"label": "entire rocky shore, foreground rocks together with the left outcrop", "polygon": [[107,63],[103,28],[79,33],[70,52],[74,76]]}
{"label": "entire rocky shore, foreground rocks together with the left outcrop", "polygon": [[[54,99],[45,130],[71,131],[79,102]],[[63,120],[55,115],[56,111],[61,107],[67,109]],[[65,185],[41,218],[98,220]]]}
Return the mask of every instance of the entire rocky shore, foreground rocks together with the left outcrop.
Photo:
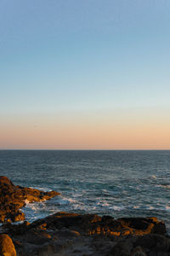
{"label": "entire rocky shore, foreground rocks together with the left outcrop", "polygon": [[8,177],[0,177],[0,193],[0,255],[170,255],[166,226],[157,218],[57,212],[31,224],[12,224],[26,200],[47,200],[59,193],[14,186]]}

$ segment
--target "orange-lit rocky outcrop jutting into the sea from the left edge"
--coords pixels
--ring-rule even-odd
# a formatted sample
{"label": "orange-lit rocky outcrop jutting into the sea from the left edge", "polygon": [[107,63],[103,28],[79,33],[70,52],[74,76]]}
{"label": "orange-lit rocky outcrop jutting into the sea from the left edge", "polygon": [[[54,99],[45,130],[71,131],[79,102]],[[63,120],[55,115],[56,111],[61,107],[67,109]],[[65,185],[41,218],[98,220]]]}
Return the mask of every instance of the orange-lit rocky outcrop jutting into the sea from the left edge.
{"label": "orange-lit rocky outcrop jutting into the sea from the left edge", "polygon": [[43,201],[55,195],[59,195],[59,193],[15,186],[8,177],[0,176],[0,222],[24,220],[25,215],[20,212],[20,208],[26,205],[26,200],[30,202]]}

